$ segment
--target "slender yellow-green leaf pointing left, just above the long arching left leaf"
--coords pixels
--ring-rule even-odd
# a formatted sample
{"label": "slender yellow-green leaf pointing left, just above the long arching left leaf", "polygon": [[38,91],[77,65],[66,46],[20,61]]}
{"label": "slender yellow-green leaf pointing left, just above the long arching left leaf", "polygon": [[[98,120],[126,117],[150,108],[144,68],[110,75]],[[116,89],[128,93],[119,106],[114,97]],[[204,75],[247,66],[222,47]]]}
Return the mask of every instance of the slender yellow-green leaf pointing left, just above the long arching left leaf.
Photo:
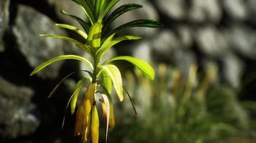
{"label": "slender yellow-green leaf pointing left, just above the long arching left leaf", "polygon": [[76,44],[76,46],[79,46],[81,49],[83,49],[84,51],[86,51],[88,54],[92,56],[90,46],[84,45],[80,41],[76,41],[75,39],[72,39],[68,36],[60,36],[55,34],[40,34],[40,36],[52,37],[52,38],[58,38],[58,39],[64,39],[66,41],[70,41],[73,44]]}

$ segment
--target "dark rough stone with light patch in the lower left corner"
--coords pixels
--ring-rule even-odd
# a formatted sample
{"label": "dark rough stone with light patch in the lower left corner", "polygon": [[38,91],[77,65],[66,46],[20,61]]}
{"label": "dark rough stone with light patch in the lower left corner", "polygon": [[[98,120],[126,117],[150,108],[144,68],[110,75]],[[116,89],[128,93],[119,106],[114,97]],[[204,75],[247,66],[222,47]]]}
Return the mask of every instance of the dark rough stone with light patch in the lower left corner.
{"label": "dark rough stone with light patch in the lower left corner", "polygon": [[0,77],[0,140],[14,139],[33,134],[40,125],[35,115],[34,92]]}

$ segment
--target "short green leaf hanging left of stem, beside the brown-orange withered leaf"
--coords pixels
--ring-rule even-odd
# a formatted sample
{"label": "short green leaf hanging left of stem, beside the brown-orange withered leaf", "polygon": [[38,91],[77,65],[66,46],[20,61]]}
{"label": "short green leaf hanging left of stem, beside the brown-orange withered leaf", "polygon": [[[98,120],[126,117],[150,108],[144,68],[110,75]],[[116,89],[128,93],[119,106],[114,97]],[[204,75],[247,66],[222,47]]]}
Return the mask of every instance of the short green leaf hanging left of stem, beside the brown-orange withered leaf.
{"label": "short green leaf hanging left of stem, beside the brown-orange withered leaf", "polygon": [[81,79],[77,84],[76,84],[76,87],[74,89],[74,92],[73,92],[73,96],[72,96],[72,99],[71,99],[71,104],[70,104],[70,109],[71,109],[71,114],[74,114],[75,112],[75,109],[76,109],[76,102],[78,100],[78,95],[79,95],[79,92],[81,90],[81,88],[83,87],[83,85],[86,83],[86,78],[84,79]]}

